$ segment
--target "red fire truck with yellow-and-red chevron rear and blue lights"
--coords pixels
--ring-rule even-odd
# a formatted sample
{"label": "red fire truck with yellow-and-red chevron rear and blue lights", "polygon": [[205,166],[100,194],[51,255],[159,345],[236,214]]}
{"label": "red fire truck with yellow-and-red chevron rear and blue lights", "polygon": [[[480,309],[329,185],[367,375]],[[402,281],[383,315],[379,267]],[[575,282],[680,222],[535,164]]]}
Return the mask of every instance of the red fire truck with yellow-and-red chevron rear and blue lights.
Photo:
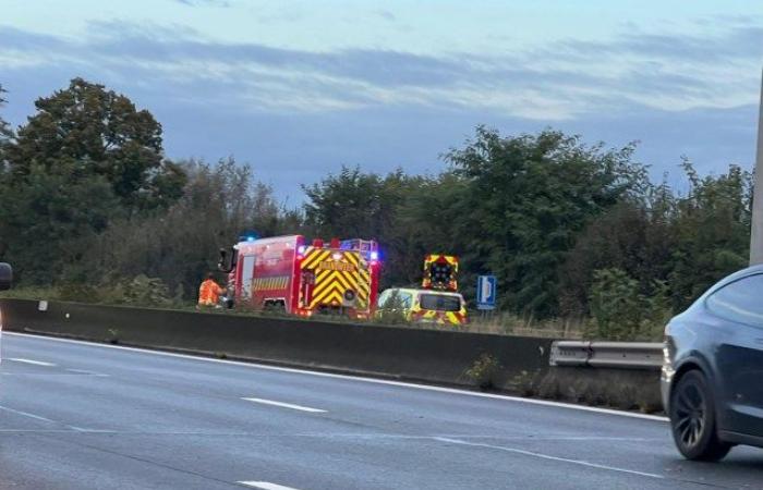
{"label": "red fire truck with yellow-and-red chevron rear and blue lights", "polygon": [[288,235],[242,237],[220,250],[219,268],[239,307],[365,319],[375,309],[382,262],[373,240],[308,243]]}

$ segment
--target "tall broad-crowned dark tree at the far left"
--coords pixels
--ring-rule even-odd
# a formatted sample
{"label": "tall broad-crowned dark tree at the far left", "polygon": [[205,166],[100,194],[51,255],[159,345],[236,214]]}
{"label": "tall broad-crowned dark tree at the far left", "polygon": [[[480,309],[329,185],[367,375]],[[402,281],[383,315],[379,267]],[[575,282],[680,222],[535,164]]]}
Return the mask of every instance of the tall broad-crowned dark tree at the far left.
{"label": "tall broad-crowned dark tree at the far left", "polygon": [[75,78],[35,106],[0,138],[0,256],[26,284],[85,282],[90,242],[166,208],[186,179],[162,160],[159,123],[122,95]]}

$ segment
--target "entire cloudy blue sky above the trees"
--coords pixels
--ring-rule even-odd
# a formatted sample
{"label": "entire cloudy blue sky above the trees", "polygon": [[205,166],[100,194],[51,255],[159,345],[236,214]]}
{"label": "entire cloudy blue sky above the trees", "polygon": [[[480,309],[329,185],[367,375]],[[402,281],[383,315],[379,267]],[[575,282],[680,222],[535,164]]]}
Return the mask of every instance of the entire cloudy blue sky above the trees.
{"label": "entire cloudy blue sky above the trees", "polygon": [[0,115],[73,77],[292,204],[341,166],[437,173],[477,125],[621,147],[659,179],[752,169],[759,0],[0,0]]}

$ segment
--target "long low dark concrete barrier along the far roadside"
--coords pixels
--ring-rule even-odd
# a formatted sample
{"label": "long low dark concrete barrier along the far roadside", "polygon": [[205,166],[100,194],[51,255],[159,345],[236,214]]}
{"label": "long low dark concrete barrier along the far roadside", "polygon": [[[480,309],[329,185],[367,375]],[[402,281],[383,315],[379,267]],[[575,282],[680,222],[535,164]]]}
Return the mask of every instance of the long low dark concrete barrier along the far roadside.
{"label": "long low dark concrete barrier along the far roadside", "polygon": [[550,339],[378,327],[243,315],[2,299],[9,331],[250,359],[284,366],[474,385],[482,355],[492,383],[523,391],[548,370]]}

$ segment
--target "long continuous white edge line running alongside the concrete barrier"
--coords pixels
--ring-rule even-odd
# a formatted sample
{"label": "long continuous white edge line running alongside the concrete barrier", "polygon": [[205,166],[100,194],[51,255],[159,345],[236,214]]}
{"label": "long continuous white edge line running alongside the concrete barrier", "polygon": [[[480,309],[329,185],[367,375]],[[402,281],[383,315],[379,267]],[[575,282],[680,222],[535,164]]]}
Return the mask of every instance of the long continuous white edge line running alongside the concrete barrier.
{"label": "long continuous white edge line running alongside the concrete barrier", "polygon": [[573,403],[554,402],[550,400],[523,399],[521,396],[511,396],[511,395],[495,394],[495,393],[481,393],[479,391],[459,390],[457,388],[433,387],[433,385],[428,385],[428,384],[417,384],[417,383],[405,382],[405,381],[390,381],[390,380],[377,379],[377,378],[362,378],[360,376],[338,375],[335,372],[308,371],[306,369],[288,368],[288,367],[281,367],[281,366],[269,366],[269,365],[257,364],[257,363],[245,363],[243,360],[215,359],[213,357],[192,356],[189,354],[177,354],[173,352],[160,352],[160,351],[154,351],[150,348],[125,347],[123,345],[99,344],[97,342],[76,341],[76,340],[72,340],[72,339],[57,339],[55,336],[33,335],[33,334],[28,334],[28,333],[3,332],[3,334],[25,336],[25,338],[31,338],[31,339],[41,339],[44,341],[47,340],[47,341],[51,341],[51,342],[63,342],[63,343],[71,343],[71,344],[77,344],[77,345],[89,345],[89,346],[94,346],[94,347],[117,348],[117,350],[121,350],[121,351],[138,352],[142,354],[154,354],[157,356],[166,356],[166,357],[177,357],[177,358],[181,358],[181,359],[193,359],[193,360],[201,360],[201,362],[205,362],[205,363],[218,363],[218,364],[227,364],[227,365],[231,365],[231,366],[245,366],[245,367],[253,368],[253,369],[264,369],[264,370],[281,371],[281,372],[294,372],[294,373],[299,373],[299,375],[317,376],[317,377],[322,377],[322,378],[347,379],[347,380],[361,381],[361,382],[366,382],[366,383],[387,384],[390,387],[414,388],[416,390],[436,391],[436,392],[440,392],[440,393],[461,394],[461,395],[476,396],[476,397],[482,397],[482,399],[505,400],[508,402],[526,403],[526,404],[531,404],[531,405],[570,408],[570,409],[581,411],[581,412],[592,412],[592,413],[596,413],[596,414],[617,415],[620,417],[640,418],[640,419],[644,419],[644,420],[655,420],[655,421],[662,421],[662,422],[668,421],[667,417],[662,417],[658,415],[638,414],[638,413],[633,413],[633,412],[621,412],[621,411],[616,411],[613,408],[600,408],[600,407],[595,407],[595,406],[576,405]]}

